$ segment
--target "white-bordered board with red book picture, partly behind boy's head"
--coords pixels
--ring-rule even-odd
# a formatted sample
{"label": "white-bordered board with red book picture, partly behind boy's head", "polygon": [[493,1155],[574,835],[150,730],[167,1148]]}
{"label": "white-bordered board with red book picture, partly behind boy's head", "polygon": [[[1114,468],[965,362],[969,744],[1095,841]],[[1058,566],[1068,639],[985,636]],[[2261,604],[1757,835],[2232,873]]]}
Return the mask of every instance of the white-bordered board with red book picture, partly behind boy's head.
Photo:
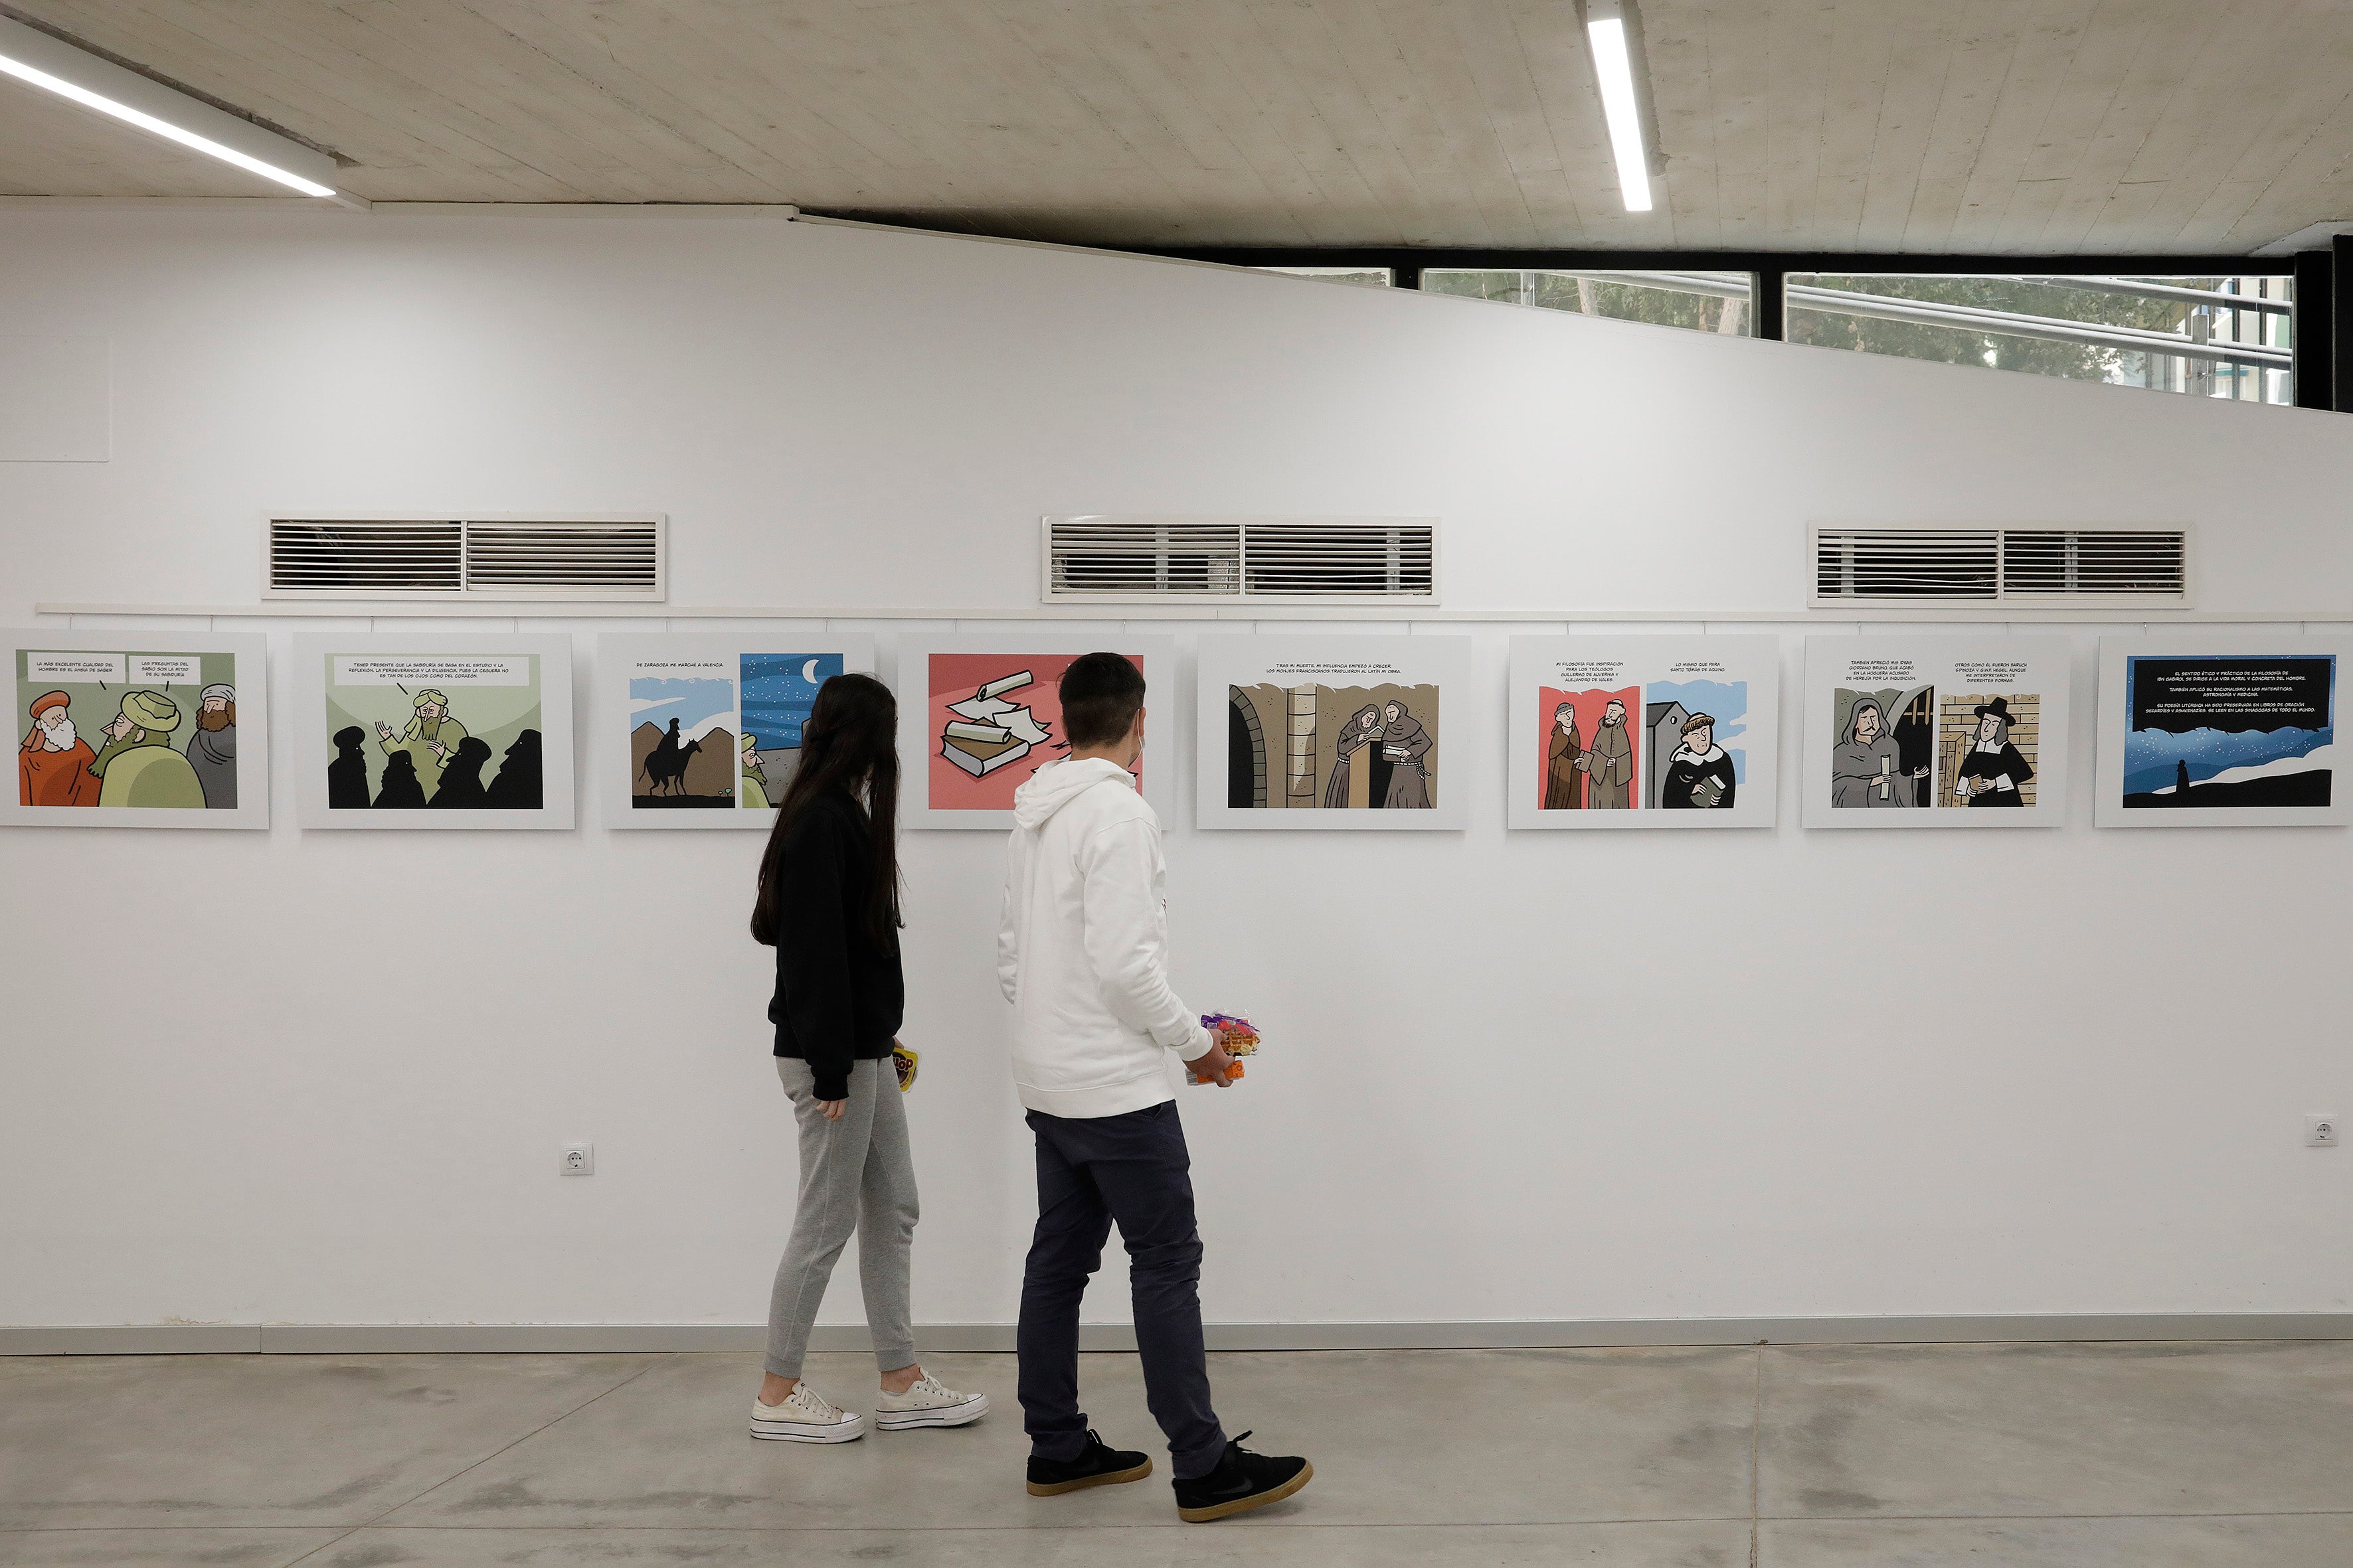
{"label": "white-bordered board with red book picture, partly behind boy's head", "polygon": [[1144,670],[1144,757],[1136,788],[1174,813],[1176,642],[1092,632],[1005,630],[899,639],[899,820],[908,827],[1014,825],[1014,790],[1066,757],[1061,672],[1080,654],[1122,654]]}

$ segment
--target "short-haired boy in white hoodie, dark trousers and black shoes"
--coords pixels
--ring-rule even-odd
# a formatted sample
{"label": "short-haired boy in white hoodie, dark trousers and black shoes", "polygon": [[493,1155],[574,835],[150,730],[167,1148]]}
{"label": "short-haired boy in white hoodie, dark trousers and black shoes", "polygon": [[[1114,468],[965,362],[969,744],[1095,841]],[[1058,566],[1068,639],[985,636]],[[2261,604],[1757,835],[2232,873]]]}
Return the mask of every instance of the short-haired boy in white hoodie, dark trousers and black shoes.
{"label": "short-haired boy in white hoodie, dark trousers and black shoes", "polygon": [[998,929],[1014,1088],[1038,1135],[1019,1331],[1028,1490],[1052,1497],[1153,1469],[1141,1453],[1108,1448],[1078,1408],[1078,1302],[1118,1220],[1176,1512],[1224,1519],[1280,1502],[1315,1474],[1306,1460],[1228,1441],[1209,1408],[1200,1232],[1167,1053],[1219,1088],[1233,1063],[1167,980],[1160,818],[1129,776],[1144,750],[1144,675],[1118,654],[1071,661],[1061,726],[1071,755],[1014,792]]}

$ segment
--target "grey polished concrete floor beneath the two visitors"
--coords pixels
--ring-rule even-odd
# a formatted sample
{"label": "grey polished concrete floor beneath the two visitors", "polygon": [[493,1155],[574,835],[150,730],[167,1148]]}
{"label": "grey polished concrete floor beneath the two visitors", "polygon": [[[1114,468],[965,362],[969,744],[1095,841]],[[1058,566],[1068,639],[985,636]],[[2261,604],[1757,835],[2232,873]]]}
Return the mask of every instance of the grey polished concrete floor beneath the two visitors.
{"label": "grey polished concrete floor beneath the two visitors", "polygon": [[0,1563],[2353,1563],[2353,1345],[1221,1354],[1315,1483],[1214,1526],[1132,1356],[1089,1413],[1162,1474],[1071,1497],[1021,1488],[1009,1356],[927,1366],[998,1410],[805,1448],[746,1436],[734,1354],[0,1359]]}

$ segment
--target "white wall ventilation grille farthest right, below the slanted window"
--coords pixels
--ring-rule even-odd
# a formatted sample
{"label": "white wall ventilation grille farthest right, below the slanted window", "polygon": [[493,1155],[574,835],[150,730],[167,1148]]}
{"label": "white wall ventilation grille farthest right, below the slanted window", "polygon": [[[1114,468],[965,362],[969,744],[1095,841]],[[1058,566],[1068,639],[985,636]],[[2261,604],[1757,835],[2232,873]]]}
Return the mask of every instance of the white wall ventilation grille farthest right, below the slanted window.
{"label": "white wall ventilation grille farthest right, below the slanted window", "polygon": [[2188,529],[1817,527],[1814,604],[2191,602]]}

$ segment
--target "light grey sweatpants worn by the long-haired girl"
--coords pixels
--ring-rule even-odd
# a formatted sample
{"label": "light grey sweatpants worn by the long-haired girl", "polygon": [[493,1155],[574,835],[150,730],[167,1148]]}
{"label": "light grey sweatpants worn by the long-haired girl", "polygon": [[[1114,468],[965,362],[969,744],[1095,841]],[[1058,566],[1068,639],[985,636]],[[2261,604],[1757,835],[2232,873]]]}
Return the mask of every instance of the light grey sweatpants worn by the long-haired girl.
{"label": "light grey sweatpants worn by the long-haired girl", "polygon": [[859,1286],[866,1291],[875,1363],[885,1373],[913,1366],[908,1258],[915,1251],[915,1159],[906,1143],[899,1072],[889,1060],[852,1063],[849,1105],[840,1121],[826,1121],[816,1110],[807,1063],[779,1056],[776,1077],[793,1095],[800,1124],[800,1211],[767,1298],[767,1371],[800,1378],[816,1307],[826,1300],[826,1281],[849,1232],[859,1237]]}

